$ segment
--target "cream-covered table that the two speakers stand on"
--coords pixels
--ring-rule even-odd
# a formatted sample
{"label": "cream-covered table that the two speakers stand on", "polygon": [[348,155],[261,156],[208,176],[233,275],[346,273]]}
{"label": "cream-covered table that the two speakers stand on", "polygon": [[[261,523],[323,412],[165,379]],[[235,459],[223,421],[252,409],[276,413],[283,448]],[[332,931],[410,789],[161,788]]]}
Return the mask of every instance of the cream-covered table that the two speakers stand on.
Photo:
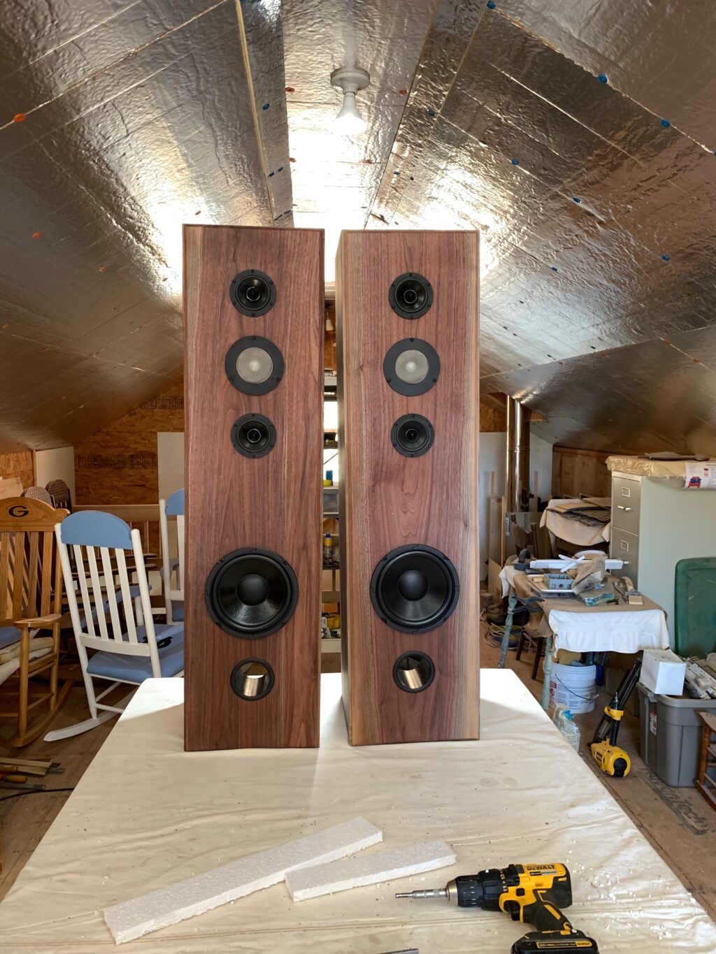
{"label": "cream-covered table that the two speakers stand on", "polygon": [[351,748],[340,686],[323,676],[319,750],[186,754],[183,681],[145,682],[0,903],[0,951],[116,949],[104,906],[357,815],[386,848],[448,840],[458,864],[296,904],[278,884],[127,954],[507,954],[525,931],[507,916],[393,895],[510,861],[567,864],[570,917],[601,954],[716,950],[716,925],[516,674],[482,671],[476,742]]}

